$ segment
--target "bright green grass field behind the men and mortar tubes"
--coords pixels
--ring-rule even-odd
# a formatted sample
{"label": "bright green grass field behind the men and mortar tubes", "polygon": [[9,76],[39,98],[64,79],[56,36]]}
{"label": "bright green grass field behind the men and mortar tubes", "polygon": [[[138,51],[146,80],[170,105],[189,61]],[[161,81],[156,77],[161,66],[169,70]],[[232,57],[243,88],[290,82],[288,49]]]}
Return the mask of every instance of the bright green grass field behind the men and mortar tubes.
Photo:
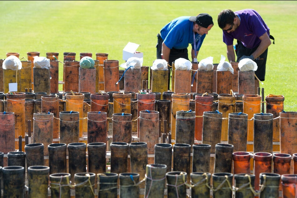
{"label": "bright green grass field behind the men and mortar tubes", "polygon": [[[268,94],[284,95],[284,110],[297,111],[296,49],[297,1],[0,1],[0,58],[7,52],[108,53],[109,60],[124,63],[122,50],[128,42],[140,44],[144,66],[156,59],[156,35],[179,16],[207,12],[213,17],[200,49],[198,61],[212,56],[219,63],[226,57],[222,31],[217,25],[223,9],[237,11],[252,8],[260,13],[275,37],[268,50],[265,82]],[[60,64],[59,80],[62,80]]]}

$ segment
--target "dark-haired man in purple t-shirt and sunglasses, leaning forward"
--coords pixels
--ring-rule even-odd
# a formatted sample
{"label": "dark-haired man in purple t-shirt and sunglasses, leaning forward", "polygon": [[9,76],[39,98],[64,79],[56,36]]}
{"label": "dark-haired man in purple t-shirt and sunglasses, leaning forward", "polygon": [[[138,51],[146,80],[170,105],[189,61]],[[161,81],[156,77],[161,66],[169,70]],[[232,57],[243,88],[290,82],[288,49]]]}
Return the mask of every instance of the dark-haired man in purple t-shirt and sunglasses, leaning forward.
{"label": "dark-haired man in purple t-shirt and sunglasses, leaning forward", "polygon": [[[223,42],[227,45],[229,62],[235,62],[233,40],[237,39],[235,52],[237,62],[250,58],[257,63],[255,75],[260,81],[265,80],[268,47],[271,44],[269,28],[258,12],[244,9],[237,12],[223,10],[218,15],[218,25],[223,30]],[[255,94],[259,81],[255,78]]]}

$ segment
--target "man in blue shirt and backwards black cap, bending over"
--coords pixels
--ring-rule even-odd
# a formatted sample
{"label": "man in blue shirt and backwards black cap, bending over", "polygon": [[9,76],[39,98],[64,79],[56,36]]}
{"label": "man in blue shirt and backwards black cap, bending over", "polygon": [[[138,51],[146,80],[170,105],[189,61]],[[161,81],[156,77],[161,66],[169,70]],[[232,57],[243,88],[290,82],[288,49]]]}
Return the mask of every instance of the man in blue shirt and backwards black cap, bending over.
{"label": "man in blue shirt and backwards black cap, bending over", "polygon": [[[189,60],[187,48],[191,43],[192,62],[198,62],[197,54],[206,34],[213,25],[212,17],[207,13],[201,13],[194,17],[178,17],[172,20],[157,35],[157,59],[165,59],[170,66],[178,58]],[[168,89],[169,84],[170,82]]]}

